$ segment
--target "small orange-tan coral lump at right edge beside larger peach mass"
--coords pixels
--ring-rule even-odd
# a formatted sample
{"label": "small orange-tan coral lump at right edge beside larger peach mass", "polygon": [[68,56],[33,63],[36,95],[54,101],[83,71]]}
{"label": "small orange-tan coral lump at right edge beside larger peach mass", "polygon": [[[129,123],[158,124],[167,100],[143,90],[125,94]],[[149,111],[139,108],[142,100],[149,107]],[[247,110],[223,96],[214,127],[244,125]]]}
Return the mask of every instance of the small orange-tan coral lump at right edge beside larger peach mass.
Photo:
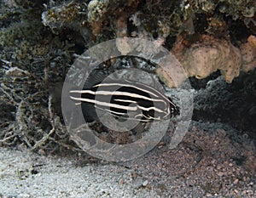
{"label": "small orange-tan coral lump at right edge beside larger peach mass", "polygon": [[256,37],[251,35],[246,43],[240,46],[242,55],[242,71],[251,71],[256,67]]}

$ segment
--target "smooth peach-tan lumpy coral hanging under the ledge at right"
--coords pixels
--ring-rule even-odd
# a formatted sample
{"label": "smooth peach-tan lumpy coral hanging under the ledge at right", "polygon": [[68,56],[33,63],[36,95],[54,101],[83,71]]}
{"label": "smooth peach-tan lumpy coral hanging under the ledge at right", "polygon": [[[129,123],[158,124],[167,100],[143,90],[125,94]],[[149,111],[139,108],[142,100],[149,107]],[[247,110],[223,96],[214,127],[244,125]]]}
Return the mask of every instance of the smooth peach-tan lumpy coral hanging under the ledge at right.
{"label": "smooth peach-tan lumpy coral hanging under the ledge at right", "polygon": [[[256,67],[256,37],[251,35],[247,38],[247,42],[236,48],[230,41],[211,35],[201,35],[193,43],[189,43],[183,35],[179,35],[172,53],[183,65],[187,76],[202,79],[219,70],[224,80],[231,83],[239,76],[240,71],[247,72]],[[166,76],[160,68],[156,70],[156,74],[168,87],[176,87],[172,78]],[[182,80],[180,79],[179,82]]]}

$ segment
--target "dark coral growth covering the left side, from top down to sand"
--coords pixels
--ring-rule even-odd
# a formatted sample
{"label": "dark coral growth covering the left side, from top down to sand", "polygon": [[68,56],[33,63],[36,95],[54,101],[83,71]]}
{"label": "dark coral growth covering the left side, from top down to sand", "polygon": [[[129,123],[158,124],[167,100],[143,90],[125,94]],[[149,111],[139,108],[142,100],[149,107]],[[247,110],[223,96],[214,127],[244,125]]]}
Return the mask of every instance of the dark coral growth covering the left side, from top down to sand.
{"label": "dark coral growth covering the left side, from top down to sand", "polygon": [[[41,23],[43,0],[5,1],[0,29],[0,144],[32,150],[60,139],[64,128],[54,114],[48,88],[70,62],[70,44]],[[8,4],[7,4],[8,3]],[[1,4],[3,6],[3,4]],[[33,8],[35,7],[35,8]],[[50,129],[50,126],[52,128]],[[67,133],[66,133],[67,135]],[[55,137],[55,138],[54,138]],[[51,139],[49,141],[49,139]],[[52,141],[53,140],[53,141]]]}

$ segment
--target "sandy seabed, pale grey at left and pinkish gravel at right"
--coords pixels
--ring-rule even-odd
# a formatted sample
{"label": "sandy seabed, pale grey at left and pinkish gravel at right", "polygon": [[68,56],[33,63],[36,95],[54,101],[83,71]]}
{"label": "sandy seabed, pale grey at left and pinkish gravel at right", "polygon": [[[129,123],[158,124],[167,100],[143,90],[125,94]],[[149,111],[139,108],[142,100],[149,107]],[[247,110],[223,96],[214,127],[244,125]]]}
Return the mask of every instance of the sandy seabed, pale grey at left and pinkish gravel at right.
{"label": "sandy seabed, pale grey at left and pinkish gravel at right", "polygon": [[0,197],[255,197],[253,139],[221,123],[192,122],[183,141],[165,141],[125,162],[40,156],[0,148]]}

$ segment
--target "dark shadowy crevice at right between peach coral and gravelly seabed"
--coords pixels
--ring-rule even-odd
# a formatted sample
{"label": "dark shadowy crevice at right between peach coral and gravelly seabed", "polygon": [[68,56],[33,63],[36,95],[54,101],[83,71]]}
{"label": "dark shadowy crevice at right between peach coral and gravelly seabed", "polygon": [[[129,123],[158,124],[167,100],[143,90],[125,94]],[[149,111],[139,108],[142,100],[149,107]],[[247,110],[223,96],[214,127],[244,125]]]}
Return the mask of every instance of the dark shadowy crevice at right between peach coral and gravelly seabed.
{"label": "dark shadowy crevice at right between peach coral and gravelly seabed", "polygon": [[241,73],[231,84],[217,80],[199,90],[193,120],[223,122],[256,138],[256,71]]}

